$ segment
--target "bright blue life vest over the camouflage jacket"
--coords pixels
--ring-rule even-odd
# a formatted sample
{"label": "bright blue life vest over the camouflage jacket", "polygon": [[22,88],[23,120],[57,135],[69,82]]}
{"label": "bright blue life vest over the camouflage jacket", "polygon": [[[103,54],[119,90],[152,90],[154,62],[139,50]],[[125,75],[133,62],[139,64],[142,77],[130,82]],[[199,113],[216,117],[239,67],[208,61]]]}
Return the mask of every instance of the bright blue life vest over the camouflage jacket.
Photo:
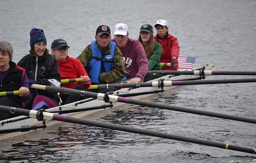
{"label": "bright blue life vest over the camouflage jacket", "polygon": [[[103,58],[101,58],[101,50],[96,45],[96,40],[91,42],[91,52],[93,58],[88,62],[86,66],[86,72],[89,72],[88,75],[90,77],[91,83],[99,85],[100,80],[100,69],[101,69],[101,61],[103,61],[105,72],[109,72],[112,70],[112,65],[114,64],[114,53],[115,53],[116,43],[110,41],[110,51],[107,52]],[[124,77],[120,82],[125,81],[126,77]],[[118,82],[119,83],[119,82]]]}

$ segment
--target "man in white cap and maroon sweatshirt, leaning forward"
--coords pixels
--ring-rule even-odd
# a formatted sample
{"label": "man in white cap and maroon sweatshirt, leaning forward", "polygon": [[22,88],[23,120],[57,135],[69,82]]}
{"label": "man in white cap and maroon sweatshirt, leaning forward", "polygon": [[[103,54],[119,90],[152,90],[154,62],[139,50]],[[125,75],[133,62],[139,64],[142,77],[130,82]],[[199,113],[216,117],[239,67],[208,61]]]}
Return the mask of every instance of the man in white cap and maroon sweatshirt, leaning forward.
{"label": "man in white cap and maroon sweatshirt, leaning forward", "polygon": [[128,38],[128,26],[118,23],[114,29],[115,38],[112,39],[122,52],[125,61],[125,76],[130,82],[143,82],[149,70],[149,64],[142,44],[138,40]]}

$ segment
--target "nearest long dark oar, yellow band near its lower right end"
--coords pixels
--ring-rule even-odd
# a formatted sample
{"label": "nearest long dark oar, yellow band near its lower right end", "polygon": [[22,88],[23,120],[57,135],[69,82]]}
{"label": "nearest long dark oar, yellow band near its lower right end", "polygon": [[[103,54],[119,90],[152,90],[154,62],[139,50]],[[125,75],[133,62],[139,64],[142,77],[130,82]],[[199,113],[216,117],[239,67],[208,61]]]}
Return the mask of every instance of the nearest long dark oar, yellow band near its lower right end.
{"label": "nearest long dark oar, yellow band near its lower right end", "polygon": [[104,123],[104,122],[96,122],[96,121],[87,120],[87,119],[66,117],[64,115],[57,115],[57,114],[47,113],[47,112],[43,112],[43,111],[33,111],[33,110],[27,110],[27,109],[21,109],[21,108],[12,108],[12,107],[6,107],[6,106],[0,106],[0,111],[1,112],[6,112],[6,113],[11,112],[13,114],[18,114],[18,115],[27,115],[30,118],[37,118],[38,120],[58,120],[60,122],[69,122],[69,123],[74,123],[74,124],[90,125],[90,126],[95,126],[95,127],[100,127],[100,128],[119,130],[119,131],[122,131],[122,132],[144,134],[144,135],[149,135],[149,136],[155,136],[155,137],[158,137],[158,138],[179,140],[179,141],[185,141],[185,142],[189,142],[189,143],[196,143],[196,144],[201,144],[201,145],[214,146],[214,147],[217,147],[217,148],[241,151],[241,152],[244,152],[244,153],[256,154],[255,148],[254,149],[249,149],[249,148],[244,148],[244,147],[241,147],[241,146],[234,146],[234,145],[229,145],[229,144],[217,143],[217,142],[209,141],[209,140],[188,138],[186,136],[179,136],[179,135],[173,135],[173,134],[154,132],[152,130],[126,127],[124,125],[117,125],[117,124],[110,124],[110,123]]}

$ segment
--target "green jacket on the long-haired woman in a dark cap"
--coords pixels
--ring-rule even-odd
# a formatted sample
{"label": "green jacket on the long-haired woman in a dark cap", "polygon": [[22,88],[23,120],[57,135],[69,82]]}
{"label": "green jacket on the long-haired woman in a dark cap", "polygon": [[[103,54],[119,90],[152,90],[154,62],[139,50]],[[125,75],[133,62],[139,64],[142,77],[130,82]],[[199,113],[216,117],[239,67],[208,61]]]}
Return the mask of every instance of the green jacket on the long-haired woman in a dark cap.
{"label": "green jacket on the long-haired woman in a dark cap", "polygon": [[160,66],[160,57],[162,53],[162,46],[154,40],[154,48],[149,58],[149,70],[162,70]]}

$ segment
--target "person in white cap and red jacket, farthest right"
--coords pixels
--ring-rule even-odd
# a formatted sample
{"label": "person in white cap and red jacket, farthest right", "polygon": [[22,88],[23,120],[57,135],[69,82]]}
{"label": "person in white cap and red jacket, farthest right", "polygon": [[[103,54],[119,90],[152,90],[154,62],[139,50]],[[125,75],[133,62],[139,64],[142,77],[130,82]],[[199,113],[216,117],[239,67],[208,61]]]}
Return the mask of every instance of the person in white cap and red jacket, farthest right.
{"label": "person in white cap and red jacket, farthest right", "polygon": [[162,70],[177,70],[178,55],[180,46],[178,40],[174,36],[168,34],[168,23],[166,20],[158,20],[155,24],[157,35],[155,41],[162,45],[161,63],[171,63],[172,66],[163,66]]}

